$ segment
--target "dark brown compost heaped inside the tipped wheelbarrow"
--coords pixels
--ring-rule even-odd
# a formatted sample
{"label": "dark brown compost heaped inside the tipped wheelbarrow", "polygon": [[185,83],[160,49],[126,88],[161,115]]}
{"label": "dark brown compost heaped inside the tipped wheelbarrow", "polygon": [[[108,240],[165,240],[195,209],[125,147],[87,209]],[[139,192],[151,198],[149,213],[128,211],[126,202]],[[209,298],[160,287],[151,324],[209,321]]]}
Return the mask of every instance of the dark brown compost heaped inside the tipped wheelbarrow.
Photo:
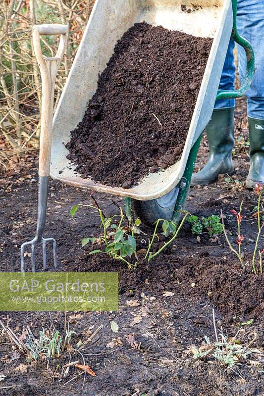
{"label": "dark brown compost heaped inside the tipped wheelbarrow", "polygon": [[130,188],[181,156],[212,40],[146,22],[117,42],[66,148],[83,178]]}

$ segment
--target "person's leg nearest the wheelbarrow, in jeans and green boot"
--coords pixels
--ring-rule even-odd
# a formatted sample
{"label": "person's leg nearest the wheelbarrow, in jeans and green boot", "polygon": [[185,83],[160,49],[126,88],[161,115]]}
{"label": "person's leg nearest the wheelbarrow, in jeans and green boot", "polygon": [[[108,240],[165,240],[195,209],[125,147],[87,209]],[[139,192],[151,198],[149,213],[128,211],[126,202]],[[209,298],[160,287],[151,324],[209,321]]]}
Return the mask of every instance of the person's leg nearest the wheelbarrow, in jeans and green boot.
{"label": "person's leg nearest the wheelbarrow, in jeans and green boot", "polygon": [[[231,39],[219,84],[220,90],[234,90],[234,41]],[[209,159],[204,168],[193,175],[191,185],[214,182],[219,174],[232,173],[232,149],[234,147],[234,99],[216,100],[211,121],[206,127],[209,143]]]}

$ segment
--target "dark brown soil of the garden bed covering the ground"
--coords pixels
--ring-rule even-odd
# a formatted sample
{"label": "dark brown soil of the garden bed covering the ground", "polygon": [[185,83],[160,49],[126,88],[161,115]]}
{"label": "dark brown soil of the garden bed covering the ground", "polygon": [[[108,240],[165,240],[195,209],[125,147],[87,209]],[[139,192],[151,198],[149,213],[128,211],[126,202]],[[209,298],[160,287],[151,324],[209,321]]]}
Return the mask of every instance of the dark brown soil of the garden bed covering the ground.
{"label": "dark brown soil of the garden bed covering the ground", "polygon": [[[235,243],[236,223],[230,215],[238,209],[244,198],[242,249],[248,260],[252,256],[256,238],[256,218],[252,216],[256,194],[244,187],[249,169],[248,132],[245,104],[238,101],[236,110],[236,147],[233,158],[236,174],[220,177],[205,188],[190,190],[186,208],[199,216],[218,214],[223,210],[226,229]],[[204,139],[199,151],[196,169],[205,163],[207,142]],[[35,232],[37,214],[37,157],[28,155],[14,169],[0,170],[0,271],[19,271],[19,247],[30,240]],[[225,180],[226,179],[226,180]],[[117,197],[95,194],[106,216],[117,213],[114,203],[123,204]],[[62,366],[69,360],[81,360],[79,354],[65,352],[60,358],[43,363],[27,363],[23,356],[13,358],[14,346],[0,330],[0,395],[3,396],[263,396],[263,356],[253,355],[233,369],[219,363],[195,361],[189,347],[199,347],[204,336],[214,338],[212,308],[215,309],[218,331],[225,336],[237,336],[240,342],[253,342],[261,350],[264,344],[263,276],[244,272],[230,253],[222,235],[210,239],[201,235],[198,242],[185,223],[175,243],[149,264],[143,263],[129,273],[128,268],[107,256],[88,256],[88,247],[82,248],[80,240],[101,235],[98,216],[88,208],[69,217],[76,203],[93,203],[90,193],[59,182],[51,181],[49,209],[45,235],[54,237],[58,245],[59,271],[118,271],[119,312],[89,312],[67,314],[67,324],[77,335],[72,345],[86,341],[99,326],[103,329],[82,350],[86,364],[96,372],[73,379],[80,372],[71,367],[63,377]],[[143,228],[144,229],[144,228]],[[150,234],[150,229],[145,228]],[[139,247],[144,247],[142,236]],[[264,238],[261,237],[261,245]],[[264,247],[264,246],[263,246]],[[247,261],[247,260],[246,260]],[[53,271],[49,257],[49,271]],[[41,255],[37,266],[41,270]],[[27,268],[30,258],[27,257]],[[192,287],[192,284],[195,286]],[[174,293],[164,297],[164,292]],[[154,297],[154,298],[153,298]],[[131,307],[127,300],[138,300]],[[131,325],[134,315],[142,321]],[[17,333],[29,325],[35,335],[42,327],[54,326],[63,333],[64,312],[1,312],[0,319]],[[241,322],[253,319],[248,326]],[[114,320],[118,334],[111,331]],[[90,330],[89,330],[90,329]],[[89,333],[90,332],[90,333]],[[134,334],[140,349],[131,347],[126,336]],[[106,347],[119,337],[122,346]],[[13,358],[13,360],[12,360]],[[16,370],[26,364],[27,371]],[[61,375],[62,373],[62,375]]]}

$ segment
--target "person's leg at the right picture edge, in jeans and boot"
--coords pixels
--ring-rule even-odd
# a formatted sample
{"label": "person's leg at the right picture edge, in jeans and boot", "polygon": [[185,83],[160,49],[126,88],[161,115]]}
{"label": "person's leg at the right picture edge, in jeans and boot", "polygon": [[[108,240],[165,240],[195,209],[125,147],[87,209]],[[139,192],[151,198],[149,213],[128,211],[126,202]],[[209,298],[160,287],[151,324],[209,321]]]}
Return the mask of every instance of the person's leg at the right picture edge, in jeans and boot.
{"label": "person's leg at the right picture edge, in jeans and boot", "polygon": [[[256,71],[248,89],[248,118],[250,137],[250,171],[246,180],[249,188],[256,182],[264,183],[264,2],[239,0],[238,31],[253,46]],[[239,75],[243,82],[246,74],[246,54],[238,47]]]}

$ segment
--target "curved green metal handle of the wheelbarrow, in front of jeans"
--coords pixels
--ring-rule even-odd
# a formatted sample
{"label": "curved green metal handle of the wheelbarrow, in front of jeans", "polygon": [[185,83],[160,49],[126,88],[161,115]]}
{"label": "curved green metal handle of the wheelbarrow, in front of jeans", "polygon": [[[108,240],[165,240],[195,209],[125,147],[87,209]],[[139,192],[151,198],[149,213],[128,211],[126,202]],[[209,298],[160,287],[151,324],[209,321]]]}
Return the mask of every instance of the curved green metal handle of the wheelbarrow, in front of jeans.
{"label": "curved green metal handle of the wheelbarrow, in front of jeans", "polygon": [[239,35],[237,31],[237,25],[236,25],[236,14],[237,14],[237,0],[232,0],[232,7],[233,7],[233,30],[231,37],[234,39],[234,41],[242,46],[247,54],[247,71],[246,71],[246,76],[243,81],[242,87],[240,87],[239,90],[237,91],[220,91],[216,95],[216,99],[236,99],[236,98],[241,98],[243,95],[245,95],[245,92],[247,89],[250,87],[251,81],[254,77],[254,71],[255,71],[255,55],[254,51],[252,48],[252,45],[250,42],[246,39],[244,39],[242,36]]}

